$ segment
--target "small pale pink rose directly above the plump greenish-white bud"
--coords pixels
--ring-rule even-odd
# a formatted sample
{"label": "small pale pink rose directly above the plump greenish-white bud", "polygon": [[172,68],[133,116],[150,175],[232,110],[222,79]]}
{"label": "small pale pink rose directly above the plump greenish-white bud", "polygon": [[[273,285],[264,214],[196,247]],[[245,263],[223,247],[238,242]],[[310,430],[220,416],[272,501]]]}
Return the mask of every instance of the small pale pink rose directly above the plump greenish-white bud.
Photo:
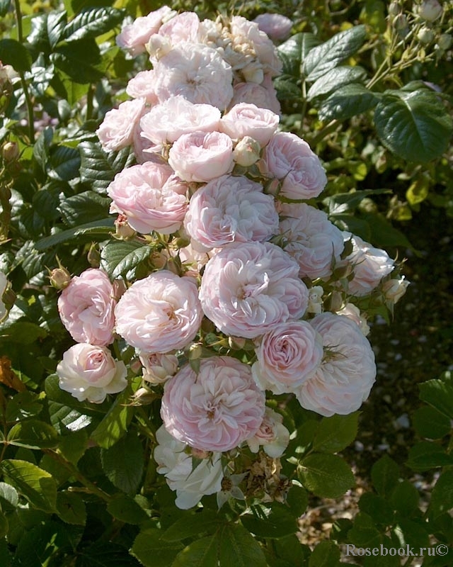
{"label": "small pale pink rose directly above the plump greenish-white bud", "polygon": [[222,117],[220,130],[235,140],[253,137],[263,147],[273,137],[279,121],[280,117],[267,108],[243,102],[235,104]]}

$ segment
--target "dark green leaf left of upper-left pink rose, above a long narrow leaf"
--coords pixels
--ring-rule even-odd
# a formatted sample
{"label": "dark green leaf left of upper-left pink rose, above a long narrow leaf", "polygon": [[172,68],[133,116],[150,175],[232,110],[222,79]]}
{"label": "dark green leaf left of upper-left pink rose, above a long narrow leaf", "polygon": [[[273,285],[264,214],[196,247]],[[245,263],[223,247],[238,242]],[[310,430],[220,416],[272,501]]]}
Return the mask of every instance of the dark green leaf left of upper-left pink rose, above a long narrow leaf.
{"label": "dark green leaf left of upper-left pink rose, above a long narrow leaf", "polygon": [[81,222],[92,222],[105,218],[111,199],[103,197],[94,191],[84,191],[64,199],[59,205],[59,211],[69,226]]}

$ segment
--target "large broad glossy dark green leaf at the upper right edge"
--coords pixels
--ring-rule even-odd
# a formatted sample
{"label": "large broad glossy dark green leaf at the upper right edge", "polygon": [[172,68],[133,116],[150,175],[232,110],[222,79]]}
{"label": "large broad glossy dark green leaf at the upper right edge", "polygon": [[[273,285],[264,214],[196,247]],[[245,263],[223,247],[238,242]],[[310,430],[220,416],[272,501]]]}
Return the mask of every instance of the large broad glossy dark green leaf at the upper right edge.
{"label": "large broad glossy dark green leaf at the upper right edge", "polygon": [[385,91],[374,111],[374,123],[384,146],[410,162],[440,157],[453,131],[447,109],[428,89]]}

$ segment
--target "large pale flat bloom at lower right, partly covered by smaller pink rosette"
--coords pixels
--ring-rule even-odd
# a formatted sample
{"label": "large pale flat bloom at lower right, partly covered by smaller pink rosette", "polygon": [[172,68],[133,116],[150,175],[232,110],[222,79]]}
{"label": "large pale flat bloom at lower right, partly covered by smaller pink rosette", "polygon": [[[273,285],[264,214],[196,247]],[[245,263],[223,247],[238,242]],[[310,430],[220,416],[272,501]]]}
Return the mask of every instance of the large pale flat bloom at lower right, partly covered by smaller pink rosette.
{"label": "large pale flat bloom at lower right, partly covered by smaller pink rosette", "polygon": [[374,353],[358,325],[321,313],[311,320],[323,339],[324,359],[297,393],[302,408],[321,415],[348,415],[368,398],[376,378]]}

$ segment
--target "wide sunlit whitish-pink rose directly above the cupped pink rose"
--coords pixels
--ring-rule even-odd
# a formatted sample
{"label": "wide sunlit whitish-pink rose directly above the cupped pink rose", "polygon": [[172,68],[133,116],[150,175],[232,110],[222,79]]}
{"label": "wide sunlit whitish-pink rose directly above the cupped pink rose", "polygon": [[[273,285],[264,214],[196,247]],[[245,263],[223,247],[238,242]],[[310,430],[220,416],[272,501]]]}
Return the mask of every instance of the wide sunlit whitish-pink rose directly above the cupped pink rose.
{"label": "wide sunlit whitish-pink rose directly above the cupped pink rose", "polygon": [[171,96],[154,106],[140,120],[142,136],[154,144],[175,142],[183,134],[214,132],[219,127],[219,108],[194,104],[183,96]]}

